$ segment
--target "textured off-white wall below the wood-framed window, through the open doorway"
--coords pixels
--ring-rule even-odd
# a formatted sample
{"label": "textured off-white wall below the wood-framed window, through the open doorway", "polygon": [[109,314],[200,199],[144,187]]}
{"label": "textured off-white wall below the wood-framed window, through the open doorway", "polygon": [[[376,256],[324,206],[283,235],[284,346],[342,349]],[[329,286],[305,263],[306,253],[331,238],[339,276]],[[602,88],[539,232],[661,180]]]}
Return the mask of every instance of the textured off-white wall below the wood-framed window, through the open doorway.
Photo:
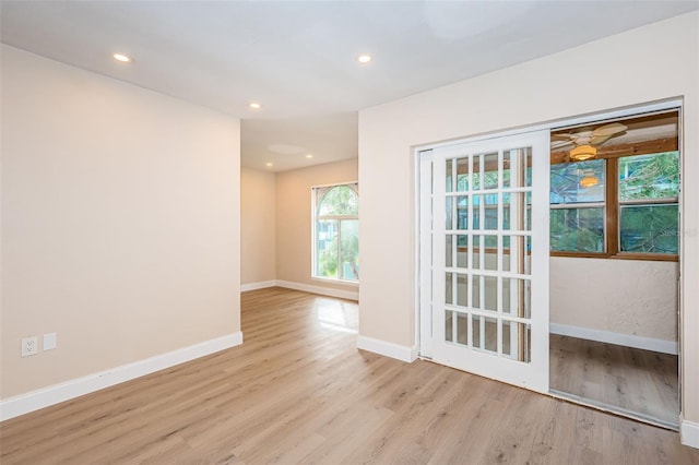
{"label": "textured off-white wall below the wood-framed window, through the open doorway", "polygon": [[550,259],[550,322],[677,341],[676,262]]}

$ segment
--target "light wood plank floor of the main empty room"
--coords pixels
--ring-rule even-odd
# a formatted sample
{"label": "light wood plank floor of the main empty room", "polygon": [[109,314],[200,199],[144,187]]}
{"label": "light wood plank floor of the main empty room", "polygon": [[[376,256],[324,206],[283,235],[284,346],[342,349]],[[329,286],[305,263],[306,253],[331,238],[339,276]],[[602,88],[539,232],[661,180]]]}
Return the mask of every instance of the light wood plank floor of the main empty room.
{"label": "light wood plank floor of the main empty room", "polygon": [[0,463],[699,463],[672,431],[357,350],[354,302],[262,289],[241,318],[241,346],[2,422]]}

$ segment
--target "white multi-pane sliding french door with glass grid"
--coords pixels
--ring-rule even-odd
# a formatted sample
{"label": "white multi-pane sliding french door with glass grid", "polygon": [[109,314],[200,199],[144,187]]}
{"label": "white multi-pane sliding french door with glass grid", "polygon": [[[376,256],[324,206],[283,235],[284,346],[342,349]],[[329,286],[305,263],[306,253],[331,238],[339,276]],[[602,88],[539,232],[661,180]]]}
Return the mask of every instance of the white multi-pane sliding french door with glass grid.
{"label": "white multi-pane sliding french door with glass grid", "polygon": [[548,130],[420,156],[420,353],[548,392]]}

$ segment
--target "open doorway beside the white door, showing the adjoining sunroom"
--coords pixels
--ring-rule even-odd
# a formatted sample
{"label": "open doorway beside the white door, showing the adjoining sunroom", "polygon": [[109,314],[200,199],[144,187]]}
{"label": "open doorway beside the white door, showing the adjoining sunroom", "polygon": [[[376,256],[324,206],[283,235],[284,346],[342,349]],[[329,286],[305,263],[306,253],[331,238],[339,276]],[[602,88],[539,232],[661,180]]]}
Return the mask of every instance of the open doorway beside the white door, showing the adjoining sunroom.
{"label": "open doorway beside the white door, showing the adjoining sunroom", "polygon": [[670,109],[550,138],[550,390],[672,429],[679,127]]}

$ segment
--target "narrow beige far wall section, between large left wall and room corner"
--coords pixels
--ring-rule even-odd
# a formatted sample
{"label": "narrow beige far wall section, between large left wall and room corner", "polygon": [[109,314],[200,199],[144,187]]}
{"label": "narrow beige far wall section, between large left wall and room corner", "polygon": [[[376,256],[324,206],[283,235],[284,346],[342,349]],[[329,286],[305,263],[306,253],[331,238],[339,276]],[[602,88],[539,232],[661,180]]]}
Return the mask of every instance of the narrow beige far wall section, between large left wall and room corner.
{"label": "narrow beige far wall section, between large left wall and room corner", "polygon": [[274,281],[275,188],[274,172],[240,169],[240,283]]}

